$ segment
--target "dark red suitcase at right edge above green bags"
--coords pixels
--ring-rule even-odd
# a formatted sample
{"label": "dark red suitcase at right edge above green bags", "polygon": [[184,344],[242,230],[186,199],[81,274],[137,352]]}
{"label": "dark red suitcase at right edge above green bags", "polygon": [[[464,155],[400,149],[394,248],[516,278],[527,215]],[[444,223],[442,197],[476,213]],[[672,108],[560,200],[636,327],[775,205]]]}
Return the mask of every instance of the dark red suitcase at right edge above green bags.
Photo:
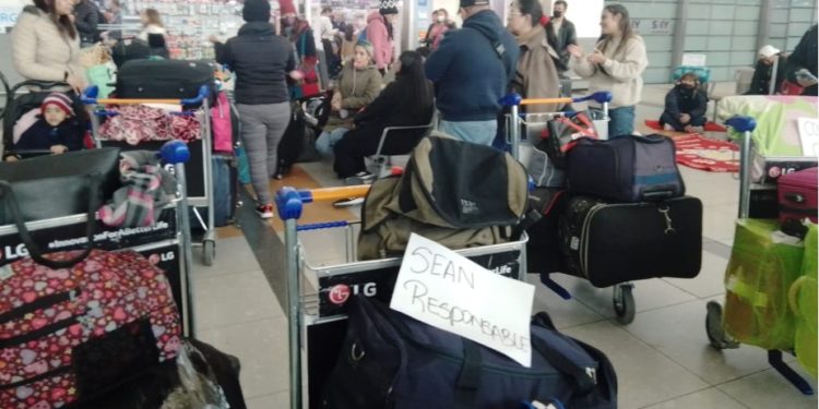
{"label": "dark red suitcase at right edge above green bags", "polygon": [[802,222],[809,218],[817,222],[817,172],[809,168],[780,177],[776,183],[780,203],[780,222]]}

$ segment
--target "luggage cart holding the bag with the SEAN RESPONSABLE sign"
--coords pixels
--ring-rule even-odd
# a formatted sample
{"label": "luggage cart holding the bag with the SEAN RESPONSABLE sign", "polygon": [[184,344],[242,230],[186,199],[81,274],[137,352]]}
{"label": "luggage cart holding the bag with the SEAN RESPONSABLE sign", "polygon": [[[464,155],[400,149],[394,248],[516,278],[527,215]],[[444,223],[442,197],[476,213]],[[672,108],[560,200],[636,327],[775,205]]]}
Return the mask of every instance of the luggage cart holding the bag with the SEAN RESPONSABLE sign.
{"label": "luggage cart holding the bag with the SEAN RESPONSABLE sign", "polygon": [[[304,191],[283,188],[276,193],[278,216],[285,224],[292,409],[305,407],[302,374],[308,380],[309,407],[320,406],[322,385],[337,360],[344,338],[347,299],[352,294],[363,293],[389,302],[401,266],[399,257],[355,261],[354,227],[357,222],[342,220],[300,226],[296,222],[301,217],[305,203],[363,196],[369,188],[366,184]],[[310,265],[305,261],[298,232],[332,228],[346,229],[346,263]],[[522,280],[526,276],[526,241],[524,233],[519,241],[464,249],[458,253],[498,274]],[[302,273],[306,274],[305,278],[318,281],[317,292],[305,291]],[[307,276],[308,273],[310,276]],[[302,352],[307,358],[306,364],[302,364]]]}

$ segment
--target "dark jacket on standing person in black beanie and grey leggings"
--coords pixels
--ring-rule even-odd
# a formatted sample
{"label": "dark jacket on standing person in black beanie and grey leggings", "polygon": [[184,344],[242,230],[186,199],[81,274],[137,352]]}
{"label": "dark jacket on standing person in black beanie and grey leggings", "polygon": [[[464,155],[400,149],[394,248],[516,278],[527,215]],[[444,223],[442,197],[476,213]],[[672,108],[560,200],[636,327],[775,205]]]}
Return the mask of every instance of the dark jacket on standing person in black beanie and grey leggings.
{"label": "dark jacket on standing person in black beanie and grey leggings", "polygon": [[296,69],[293,48],[266,22],[247,23],[236,37],[216,45],[216,60],[236,72],[236,103],[281,104],[290,99],[286,75]]}

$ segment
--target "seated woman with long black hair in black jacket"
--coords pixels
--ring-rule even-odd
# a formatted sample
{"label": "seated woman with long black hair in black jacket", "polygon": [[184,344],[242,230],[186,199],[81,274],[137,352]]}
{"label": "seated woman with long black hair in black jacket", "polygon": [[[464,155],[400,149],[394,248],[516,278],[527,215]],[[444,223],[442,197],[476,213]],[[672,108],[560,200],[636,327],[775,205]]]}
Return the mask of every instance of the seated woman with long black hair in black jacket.
{"label": "seated woman with long black hair in black jacket", "polygon": [[[335,144],[335,172],[340,178],[366,176],[364,158],[375,155],[388,127],[417,127],[432,120],[434,91],[416,51],[399,58],[395,81],[355,117],[355,129]],[[426,130],[392,131],[381,148],[383,155],[404,155],[415,147]]]}

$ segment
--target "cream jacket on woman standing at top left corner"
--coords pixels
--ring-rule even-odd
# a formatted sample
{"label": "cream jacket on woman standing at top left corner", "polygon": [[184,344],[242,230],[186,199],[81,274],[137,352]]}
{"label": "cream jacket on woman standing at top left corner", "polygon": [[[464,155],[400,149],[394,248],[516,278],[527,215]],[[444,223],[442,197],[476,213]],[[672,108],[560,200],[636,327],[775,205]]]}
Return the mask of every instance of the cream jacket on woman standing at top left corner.
{"label": "cream jacket on woman standing at top left corner", "polygon": [[14,68],[27,80],[63,81],[66,72],[85,77],[80,65],[80,34],[63,37],[39,9],[28,5],[11,31]]}

